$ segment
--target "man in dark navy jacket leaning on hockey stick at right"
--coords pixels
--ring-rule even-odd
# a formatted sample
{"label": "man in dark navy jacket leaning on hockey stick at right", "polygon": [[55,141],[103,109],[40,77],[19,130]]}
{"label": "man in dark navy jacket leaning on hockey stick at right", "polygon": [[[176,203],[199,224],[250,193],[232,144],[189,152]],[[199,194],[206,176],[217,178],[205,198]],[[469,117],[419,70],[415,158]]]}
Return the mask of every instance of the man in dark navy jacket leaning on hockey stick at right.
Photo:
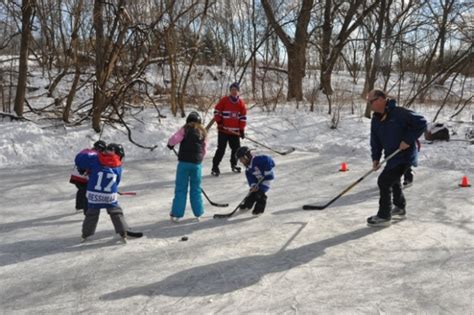
{"label": "man in dark navy jacket leaning on hockey stick at right", "polygon": [[425,131],[427,123],[423,116],[397,107],[395,100],[387,98],[382,90],[370,91],[367,100],[374,111],[370,130],[374,169],[380,167],[382,151],[385,156],[389,156],[397,149],[402,150],[387,162],[380,174],[377,181],[380,190],[379,211],[367,219],[369,226],[388,226],[392,216],[405,217],[406,200],[400,179],[410,166],[416,166],[415,142]]}

